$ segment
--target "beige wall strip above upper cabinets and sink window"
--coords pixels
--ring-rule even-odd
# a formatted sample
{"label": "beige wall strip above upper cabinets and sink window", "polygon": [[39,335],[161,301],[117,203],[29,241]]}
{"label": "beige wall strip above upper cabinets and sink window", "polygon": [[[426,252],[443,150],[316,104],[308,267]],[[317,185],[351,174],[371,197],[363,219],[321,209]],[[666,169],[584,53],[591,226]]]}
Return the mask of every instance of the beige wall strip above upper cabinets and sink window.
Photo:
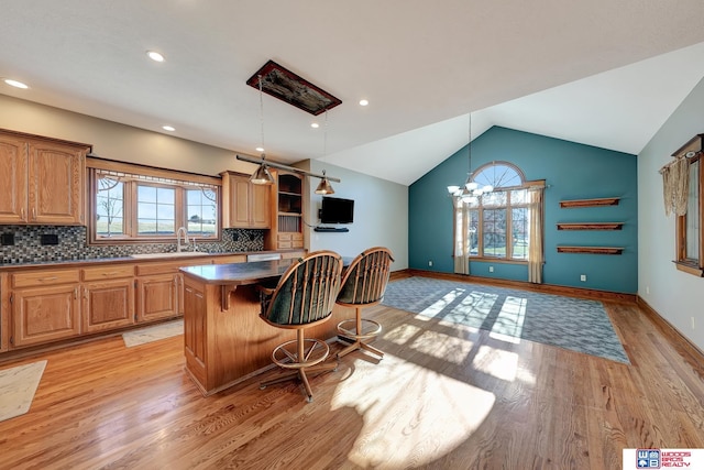
{"label": "beige wall strip above upper cabinets and sink window", "polygon": [[0,95],[0,128],[91,144],[101,157],[160,168],[211,176],[226,170],[251,173],[254,168],[235,160],[232,151],[6,95]]}

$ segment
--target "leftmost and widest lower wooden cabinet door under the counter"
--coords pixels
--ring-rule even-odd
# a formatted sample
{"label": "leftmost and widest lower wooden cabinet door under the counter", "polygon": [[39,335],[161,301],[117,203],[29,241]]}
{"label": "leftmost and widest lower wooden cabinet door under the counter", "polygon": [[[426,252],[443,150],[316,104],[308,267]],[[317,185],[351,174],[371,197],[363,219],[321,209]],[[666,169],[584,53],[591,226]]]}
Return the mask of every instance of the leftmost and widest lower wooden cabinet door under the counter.
{"label": "leftmost and widest lower wooden cabinet door under the counter", "polygon": [[80,334],[78,284],[15,289],[12,294],[14,347]]}

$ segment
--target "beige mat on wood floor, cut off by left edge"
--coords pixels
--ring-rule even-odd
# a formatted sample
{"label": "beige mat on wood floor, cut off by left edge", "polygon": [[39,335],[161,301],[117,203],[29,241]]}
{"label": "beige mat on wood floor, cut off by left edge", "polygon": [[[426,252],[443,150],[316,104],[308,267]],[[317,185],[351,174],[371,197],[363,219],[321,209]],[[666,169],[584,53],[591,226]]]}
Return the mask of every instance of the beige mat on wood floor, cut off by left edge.
{"label": "beige mat on wood floor, cut off by left edge", "polygon": [[0,370],[0,422],[30,411],[46,361]]}

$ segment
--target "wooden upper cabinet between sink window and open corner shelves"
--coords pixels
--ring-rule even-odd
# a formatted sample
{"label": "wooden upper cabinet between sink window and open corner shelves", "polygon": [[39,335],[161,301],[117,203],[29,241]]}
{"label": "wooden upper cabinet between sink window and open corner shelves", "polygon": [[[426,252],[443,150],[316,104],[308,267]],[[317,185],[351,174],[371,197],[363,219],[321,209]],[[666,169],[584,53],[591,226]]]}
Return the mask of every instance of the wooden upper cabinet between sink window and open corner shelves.
{"label": "wooden upper cabinet between sink window and open corner shelves", "polygon": [[272,227],[272,186],[254,185],[249,175],[224,172],[222,176],[222,227],[268,229]]}

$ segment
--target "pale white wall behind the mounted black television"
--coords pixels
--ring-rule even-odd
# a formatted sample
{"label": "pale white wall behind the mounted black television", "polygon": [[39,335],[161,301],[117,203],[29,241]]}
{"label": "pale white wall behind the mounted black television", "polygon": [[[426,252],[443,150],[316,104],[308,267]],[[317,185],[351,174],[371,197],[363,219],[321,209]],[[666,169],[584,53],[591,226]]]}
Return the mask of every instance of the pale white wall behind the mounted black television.
{"label": "pale white wall behind the mounted black television", "polygon": [[[316,232],[306,227],[310,251],[332,250],[343,256],[356,256],[372,247],[386,247],[394,253],[392,271],[408,267],[408,187],[374,176],[318,161],[306,162],[306,170],[340,178],[332,183],[333,197],[354,199],[354,222],[334,227],[349,228],[349,232]],[[308,178],[307,222],[320,225],[318,209],[322,196],[315,194],[320,181]]]}

